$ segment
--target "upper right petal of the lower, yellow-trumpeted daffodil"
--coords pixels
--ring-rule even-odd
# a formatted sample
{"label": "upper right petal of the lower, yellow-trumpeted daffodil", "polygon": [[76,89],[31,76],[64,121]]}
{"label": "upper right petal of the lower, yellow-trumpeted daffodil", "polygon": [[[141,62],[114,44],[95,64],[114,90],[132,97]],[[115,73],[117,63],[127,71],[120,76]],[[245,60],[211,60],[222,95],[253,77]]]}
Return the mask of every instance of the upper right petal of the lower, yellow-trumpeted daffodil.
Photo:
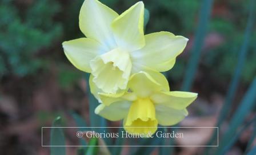
{"label": "upper right petal of the lower, yellow-trumpeted daffodil", "polygon": [[197,98],[197,93],[180,91],[156,92],[150,98],[155,104],[165,105],[173,109],[185,109]]}

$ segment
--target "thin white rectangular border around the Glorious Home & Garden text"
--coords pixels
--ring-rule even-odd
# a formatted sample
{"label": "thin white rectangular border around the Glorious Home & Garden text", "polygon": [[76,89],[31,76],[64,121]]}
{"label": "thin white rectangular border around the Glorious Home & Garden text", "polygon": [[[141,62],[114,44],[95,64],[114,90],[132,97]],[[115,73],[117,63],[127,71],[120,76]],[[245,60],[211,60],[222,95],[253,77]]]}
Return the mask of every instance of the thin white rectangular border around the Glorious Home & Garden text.
{"label": "thin white rectangular border around the Glorious Home & Garden text", "polygon": [[[41,127],[42,147],[218,147],[219,146],[219,127],[158,127],[158,128],[217,128],[217,145],[43,145],[43,128],[123,128],[123,127]],[[148,128],[148,127],[138,127]]]}

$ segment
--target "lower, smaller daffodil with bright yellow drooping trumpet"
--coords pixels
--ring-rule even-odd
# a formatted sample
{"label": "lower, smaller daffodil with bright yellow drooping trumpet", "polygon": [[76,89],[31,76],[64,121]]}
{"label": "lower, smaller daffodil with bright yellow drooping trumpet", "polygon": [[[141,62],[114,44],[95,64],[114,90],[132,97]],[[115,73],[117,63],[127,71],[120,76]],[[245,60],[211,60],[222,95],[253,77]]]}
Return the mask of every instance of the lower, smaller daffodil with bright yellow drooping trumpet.
{"label": "lower, smaller daffodil with bright yellow drooping trumpet", "polygon": [[123,119],[123,127],[133,134],[153,134],[158,124],[179,123],[188,115],[186,107],[197,93],[169,91],[167,80],[153,79],[146,72],[131,76],[128,90],[117,94],[99,93],[102,101],[95,113],[111,121]]}

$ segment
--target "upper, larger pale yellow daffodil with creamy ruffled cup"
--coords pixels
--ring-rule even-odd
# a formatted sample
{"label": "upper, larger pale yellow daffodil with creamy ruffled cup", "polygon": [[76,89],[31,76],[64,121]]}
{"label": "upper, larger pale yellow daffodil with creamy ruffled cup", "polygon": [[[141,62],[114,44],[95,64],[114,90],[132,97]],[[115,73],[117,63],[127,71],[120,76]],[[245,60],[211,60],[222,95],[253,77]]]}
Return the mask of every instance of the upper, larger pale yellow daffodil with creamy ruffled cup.
{"label": "upper, larger pale yellow daffodil with creamy ruffled cup", "polygon": [[97,0],[86,0],[79,27],[87,38],[63,42],[67,58],[91,73],[97,89],[106,93],[126,89],[130,76],[140,71],[170,70],[188,39],[163,31],[144,35],[143,15],[143,2],[118,15]]}

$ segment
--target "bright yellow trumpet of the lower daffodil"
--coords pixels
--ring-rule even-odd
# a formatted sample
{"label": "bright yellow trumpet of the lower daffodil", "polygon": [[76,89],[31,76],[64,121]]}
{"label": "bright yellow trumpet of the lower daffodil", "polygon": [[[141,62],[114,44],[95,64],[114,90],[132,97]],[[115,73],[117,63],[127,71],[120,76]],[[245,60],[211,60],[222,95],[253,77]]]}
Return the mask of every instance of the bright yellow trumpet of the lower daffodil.
{"label": "bright yellow trumpet of the lower daffodil", "polygon": [[124,128],[133,134],[154,134],[158,121],[155,119],[155,106],[149,98],[135,100],[129,109]]}

